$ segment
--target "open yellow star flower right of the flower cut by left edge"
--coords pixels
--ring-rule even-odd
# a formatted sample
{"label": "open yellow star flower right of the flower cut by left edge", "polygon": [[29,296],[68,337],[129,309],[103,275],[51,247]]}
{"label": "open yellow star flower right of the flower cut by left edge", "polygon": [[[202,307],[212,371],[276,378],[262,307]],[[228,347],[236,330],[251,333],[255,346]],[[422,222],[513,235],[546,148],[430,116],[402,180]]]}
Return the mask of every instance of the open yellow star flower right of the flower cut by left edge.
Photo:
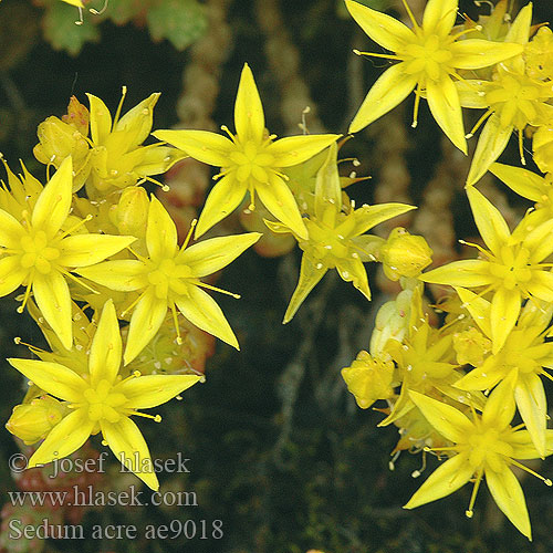
{"label": "open yellow star flower right of the flower cut by left edge", "polygon": [[161,202],[152,197],[146,227],[148,257],[137,254],[136,260],[106,261],[79,271],[82,276],[112,290],[140,292],[131,317],[125,365],[156,335],[169,309],[178,340],[177,310],[202,331],[238,348],[238,341],[221,309],[201,288],[221,290],[200,279],[228,265],[261,234],[249,232],[212,238],[187,248],[190,233],[179,248],[173,219]]}

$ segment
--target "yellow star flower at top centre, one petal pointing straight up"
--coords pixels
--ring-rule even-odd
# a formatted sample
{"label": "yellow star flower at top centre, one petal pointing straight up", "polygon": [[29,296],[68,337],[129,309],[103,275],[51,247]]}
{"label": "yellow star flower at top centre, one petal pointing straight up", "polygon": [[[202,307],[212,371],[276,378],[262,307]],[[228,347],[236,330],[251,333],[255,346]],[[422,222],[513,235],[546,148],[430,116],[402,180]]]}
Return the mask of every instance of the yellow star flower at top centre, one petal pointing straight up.
{"label": "yellow star flower at top centre, one petal pointing straight up", "polygon": [[230,215],[250,192],[281,222],[302,238],[307,230],[281,168],[301,164],[330,146],[338,135],[290,136],[274,140],[267,135],[261,98],[253,74],[244,64],[234,104],[237,134],[230,139],[207,131],[157,131],[154,136],[185,150],[189,156],[221,167],[218,182],[209,194],[196,228],[200,237]]}

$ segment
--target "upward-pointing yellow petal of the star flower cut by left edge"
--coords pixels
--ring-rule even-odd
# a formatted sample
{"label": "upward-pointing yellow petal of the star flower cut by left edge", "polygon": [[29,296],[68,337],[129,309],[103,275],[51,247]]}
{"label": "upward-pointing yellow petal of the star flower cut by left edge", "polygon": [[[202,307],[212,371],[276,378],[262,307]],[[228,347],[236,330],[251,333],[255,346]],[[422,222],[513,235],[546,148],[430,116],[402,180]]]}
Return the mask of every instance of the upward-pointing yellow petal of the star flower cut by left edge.
{"label": "upward-pointing yellow petal of the star flower cut by left edge", "polygon": [[31,217],[32,227],[40,227],[51,236],[60,230],[71,207],[72,171],[71,157],[66,157],[36,200]]}

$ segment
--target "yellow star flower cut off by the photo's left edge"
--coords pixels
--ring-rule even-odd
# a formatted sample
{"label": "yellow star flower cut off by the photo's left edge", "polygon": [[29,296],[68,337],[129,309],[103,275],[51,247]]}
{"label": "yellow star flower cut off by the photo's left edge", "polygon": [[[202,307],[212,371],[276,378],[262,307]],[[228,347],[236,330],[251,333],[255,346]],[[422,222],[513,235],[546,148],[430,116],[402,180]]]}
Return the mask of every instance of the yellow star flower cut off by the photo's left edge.
{"label": "yellow star flower cut off by the photo's left edge", "polygon": [[66,278],[76,268],[98,263],[136,239],[106,234],[71,233],[72,161],[66,158],[20,222],[0,209],[0,296],[27,285],[22,311],[32,289],[36,305],[63,346],[71,348],[73,328]]}

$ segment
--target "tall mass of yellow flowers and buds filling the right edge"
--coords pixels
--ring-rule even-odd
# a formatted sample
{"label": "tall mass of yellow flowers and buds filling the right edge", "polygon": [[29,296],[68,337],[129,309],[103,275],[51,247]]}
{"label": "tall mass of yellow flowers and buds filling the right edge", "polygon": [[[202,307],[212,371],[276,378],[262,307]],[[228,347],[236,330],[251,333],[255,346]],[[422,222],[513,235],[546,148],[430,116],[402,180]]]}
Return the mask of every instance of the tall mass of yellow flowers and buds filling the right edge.
{"label": "tall mass of yellow flowers and buds filling the right edge", "polygon": [[[346,0],[364,31],[394,52],[367,55],[398,61],[371,88],[352,131],[384,115],[413,90],[414,123],[419,100],[426,97],[444,133],[465,153],[466,138],[484,125],[466,187],[481,242],[461,241],[476,250],[476,259],[419,275],[404,272],[401,292],[378,312],[369,352],[361,352],[342,375],[359,407],[387,401],[379,426],[400,429],[395,451],[446,459],[406,509],[473,481],[466,512],[472,517],[486,479],[498,507],[531,539],[512,469],[552,484],[519,460],[553,453],[543,386],[553,368],[553,33],[545,25],[532,27],[532,4],[510,18],[501,0],[490,15],[478,22],[465,18],[457,28],[457,0],[429,0],[420,25],[404,4],[413,30]],[[467,136],[461,107],[487,109]],[[534,161],[545,176],[495,163],[513,131],[521,163],[524,137],[531,136]],[[488,170],[534,202],[514,229],[474,187]],[[395,250],[406,261],[424,255],[425,248],[414,241],[403,250],[393,237],[388,241],[379,249],[383,259]],[[386,274],[394,278],[395,272],[388,268]],[[424,301],[424,283],[451,286],[449,295],[432,309]],[[511,426],[517,411],[522,425]]]}

